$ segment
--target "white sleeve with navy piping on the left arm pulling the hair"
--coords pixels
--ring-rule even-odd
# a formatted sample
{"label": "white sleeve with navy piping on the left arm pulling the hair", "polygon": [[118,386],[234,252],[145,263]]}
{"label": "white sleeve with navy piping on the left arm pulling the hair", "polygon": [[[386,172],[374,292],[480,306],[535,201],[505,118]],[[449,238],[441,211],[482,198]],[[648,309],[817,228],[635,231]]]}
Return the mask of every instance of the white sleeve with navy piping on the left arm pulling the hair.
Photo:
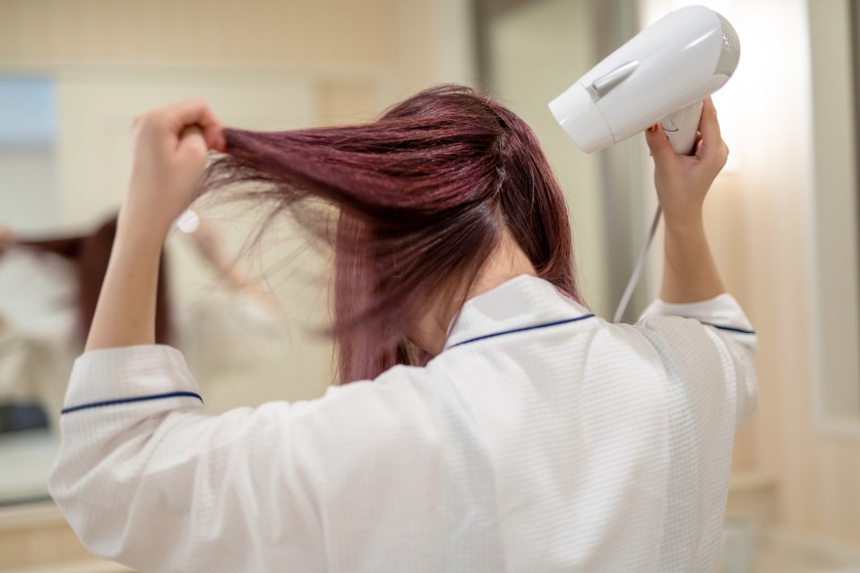
{"label": "white sleeve with navy piping on the left arm pulling the hair", "polygon": [[91,552],[133,569],[324,570],[314,476],[296,454],[314,407],[207,415],[176,349],[90,352],[74,364],[49,489]]}

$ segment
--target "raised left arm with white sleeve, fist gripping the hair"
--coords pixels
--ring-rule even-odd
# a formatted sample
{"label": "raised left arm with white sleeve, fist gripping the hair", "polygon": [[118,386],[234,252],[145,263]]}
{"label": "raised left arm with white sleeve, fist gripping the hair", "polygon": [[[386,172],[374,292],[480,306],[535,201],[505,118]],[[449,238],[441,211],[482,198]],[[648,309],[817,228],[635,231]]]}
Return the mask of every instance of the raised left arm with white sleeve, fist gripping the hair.
{"label": "raised left arm with white sleeve, fist gripping the hair", "polygon": [[224,141],[200,101],[135,121],[129,192],[48,489],[90,552],[135,570],[323,570],[315,479],[299,460],[318,448],[297,421],[319,406],[207,415],[183,356],[152,345],[161,244],[211,149]]}

